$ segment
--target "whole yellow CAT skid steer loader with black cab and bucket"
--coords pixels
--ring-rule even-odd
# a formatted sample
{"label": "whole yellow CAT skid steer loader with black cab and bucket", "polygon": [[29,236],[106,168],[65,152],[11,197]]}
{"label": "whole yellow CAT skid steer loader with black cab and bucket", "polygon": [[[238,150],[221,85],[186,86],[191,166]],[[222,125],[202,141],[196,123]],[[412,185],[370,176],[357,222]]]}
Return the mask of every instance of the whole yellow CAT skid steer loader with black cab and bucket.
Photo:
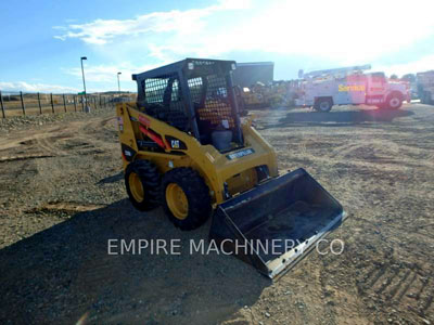
{"label": "whole yellow CAT skid steer loader with black cab and bucket", "polygon": [[181,230],[213,216],[209,239],[273,278],[345,212],[304,169],[279,176],[273,148],[240,120],[235,68],[187,58],[132,75],[137,103],[116,106],[125,183],[136,208],[162,205]]}

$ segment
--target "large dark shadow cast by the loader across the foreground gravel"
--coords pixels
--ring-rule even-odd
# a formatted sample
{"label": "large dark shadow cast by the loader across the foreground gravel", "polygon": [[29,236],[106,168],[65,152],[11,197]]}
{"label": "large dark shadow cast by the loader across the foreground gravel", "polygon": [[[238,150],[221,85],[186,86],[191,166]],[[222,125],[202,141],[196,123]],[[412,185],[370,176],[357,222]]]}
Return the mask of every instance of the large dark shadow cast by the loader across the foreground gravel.
{"label": "large dark shadow cast by the loader across the foreground gravel", "polygon": [[[127,199],[76,213],[0,250],[0,323],[222,321],[253,304],[271,283],[233,257],[190,255],[190,239],[206,239],[208,230],[209,222],[181,232],[161,209],[141,213]],[[152,253],[151,245],[141,255],[107,255],[108,239],[141,238],[177,238],[180,255],[156,255],[155,246]],[[119,242],[112,244],[119,252]]]}

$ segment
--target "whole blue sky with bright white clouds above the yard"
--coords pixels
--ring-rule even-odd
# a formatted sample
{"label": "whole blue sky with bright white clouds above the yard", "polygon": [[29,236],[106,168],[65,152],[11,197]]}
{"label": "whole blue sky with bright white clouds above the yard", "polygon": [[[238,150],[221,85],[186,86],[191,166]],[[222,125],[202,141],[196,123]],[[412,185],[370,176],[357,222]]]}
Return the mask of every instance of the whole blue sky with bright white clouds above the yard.
{"label": "whole blue sky with bright white clouds above the yard", "polygon": [[0,90],[136,91],[131,74],[186,57],[275,62],[275,79],[371,64],[434,69],[434,1],[2,1]]}

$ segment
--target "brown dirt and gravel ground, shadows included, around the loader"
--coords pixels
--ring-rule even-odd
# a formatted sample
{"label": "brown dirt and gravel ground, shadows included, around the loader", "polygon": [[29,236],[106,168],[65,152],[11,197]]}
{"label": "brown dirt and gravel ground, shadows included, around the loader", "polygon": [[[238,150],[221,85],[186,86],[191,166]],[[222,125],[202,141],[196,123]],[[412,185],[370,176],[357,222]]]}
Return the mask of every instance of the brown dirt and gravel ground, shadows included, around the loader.
{"label": "brown dirt and gravel ground, shadows included, around the loader", "polygon": [[[434,324],[434,106],[255,110],[279,167],[304,167],[349,217],[277,282],[180,232],[124,188],[114,113],[0,130],[1,324]],[[111,238],[182,253],[107,255]]]}

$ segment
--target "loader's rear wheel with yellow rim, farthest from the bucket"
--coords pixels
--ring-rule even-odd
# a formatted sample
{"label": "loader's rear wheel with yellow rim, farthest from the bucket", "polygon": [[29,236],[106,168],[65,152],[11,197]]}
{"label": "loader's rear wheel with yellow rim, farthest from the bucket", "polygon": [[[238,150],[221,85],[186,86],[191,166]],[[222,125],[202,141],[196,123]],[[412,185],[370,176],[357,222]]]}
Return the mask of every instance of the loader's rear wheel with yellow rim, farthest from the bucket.
{"label": "loader's rear wheel with yellow rim, farthest from the bucket", "polygon": [[149,160],[130,162],[125,170],[125,185],[131,204],[141,211],[149,211],[159,203],[159,174]]}

